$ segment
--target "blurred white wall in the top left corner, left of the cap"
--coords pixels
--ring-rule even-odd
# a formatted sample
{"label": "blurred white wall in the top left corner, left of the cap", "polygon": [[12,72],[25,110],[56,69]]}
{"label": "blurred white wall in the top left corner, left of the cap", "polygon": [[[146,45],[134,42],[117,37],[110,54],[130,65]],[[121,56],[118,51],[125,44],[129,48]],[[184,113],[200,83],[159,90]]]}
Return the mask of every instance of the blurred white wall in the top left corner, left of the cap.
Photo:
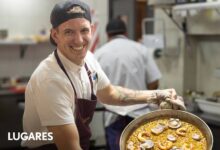
{"label": "blurred white wall in the top left corner, left of the cap", "polygon": [[9,30],[10,36],[38,34],[42,28],[50,29],[50,11],[59,0],[1,0],[0,28]]}

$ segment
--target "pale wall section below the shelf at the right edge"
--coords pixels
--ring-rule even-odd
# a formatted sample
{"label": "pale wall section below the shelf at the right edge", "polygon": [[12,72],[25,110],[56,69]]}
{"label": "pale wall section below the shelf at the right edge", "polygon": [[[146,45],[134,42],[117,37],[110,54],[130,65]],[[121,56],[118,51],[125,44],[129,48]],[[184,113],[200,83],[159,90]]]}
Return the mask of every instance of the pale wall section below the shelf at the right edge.
{"label": "pale wall section below the shelf at the right edge", "polygon": [[220,35],[212,40],[204,39],[198,43],[197,89],[212,96],[220,91],[220,78],[215,76],[215,69],[220,68]]}

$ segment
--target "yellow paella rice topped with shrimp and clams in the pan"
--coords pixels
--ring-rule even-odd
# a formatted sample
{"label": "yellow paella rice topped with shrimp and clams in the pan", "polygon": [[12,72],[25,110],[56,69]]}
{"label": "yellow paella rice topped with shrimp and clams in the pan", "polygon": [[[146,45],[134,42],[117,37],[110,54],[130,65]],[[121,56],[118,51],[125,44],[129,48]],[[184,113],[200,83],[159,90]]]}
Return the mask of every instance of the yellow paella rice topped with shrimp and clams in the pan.
{"label": "yellow paella rice topped with shrimp and clams in the pan", "polygon": [[[181,125],[178,128],[171,128],[169,126],[170,120],[179,120],[177,118],[162,118],[160,120],[153,120],[146,124],[139,126],[134,130],[127,140],[127,145],[132,145],[132,148],[127,147],[127,150],[206,150],[207,140],[203,133],[195,125],[179,120]],[[178,122],[177,122],[178,123]],[[162,130],[159,134],[155,134],[156,129]],[[143,134],[142,134],[143,133]],[[141,136],[141,137],[140,137]],[[151,147],[143,148],[143,138],[149,140]]]}

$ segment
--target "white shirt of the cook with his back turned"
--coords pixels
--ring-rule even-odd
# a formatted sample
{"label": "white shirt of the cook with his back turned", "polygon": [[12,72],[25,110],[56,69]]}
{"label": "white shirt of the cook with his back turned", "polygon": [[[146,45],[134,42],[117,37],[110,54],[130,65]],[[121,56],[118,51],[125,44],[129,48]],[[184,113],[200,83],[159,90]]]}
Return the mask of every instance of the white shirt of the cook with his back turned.
{"label": "white shirt of the cook with his back turned", "polygon": [[[152,54],[144,45],[119,35],[95,52],[102,69],[113,85],[124,86],[135,90],[146,90],[147,83],[161,78],[161,73]],[[145,107],[146,104],[133,106],[105,107],[117,114],[128,113]],[[112,120],[113,114],[106,120]],[[106,125],[108,125],[108,121]]]}

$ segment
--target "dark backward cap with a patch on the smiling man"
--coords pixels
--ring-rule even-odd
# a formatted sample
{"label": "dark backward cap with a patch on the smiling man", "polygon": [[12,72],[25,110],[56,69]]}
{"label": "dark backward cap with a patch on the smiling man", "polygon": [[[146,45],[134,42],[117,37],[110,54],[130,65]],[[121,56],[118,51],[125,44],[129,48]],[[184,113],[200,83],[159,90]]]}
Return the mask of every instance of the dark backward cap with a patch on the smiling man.
{"label": "dark backward cap with a patch on the smiling man", "polygon": [[[50,22],[53,28],[74,18],[85,18],[91,23],[91,14],[89,6],[80,0],[67,0],[57,3],[50,15]],[[55,41],[50,36],[52,44]]]}

